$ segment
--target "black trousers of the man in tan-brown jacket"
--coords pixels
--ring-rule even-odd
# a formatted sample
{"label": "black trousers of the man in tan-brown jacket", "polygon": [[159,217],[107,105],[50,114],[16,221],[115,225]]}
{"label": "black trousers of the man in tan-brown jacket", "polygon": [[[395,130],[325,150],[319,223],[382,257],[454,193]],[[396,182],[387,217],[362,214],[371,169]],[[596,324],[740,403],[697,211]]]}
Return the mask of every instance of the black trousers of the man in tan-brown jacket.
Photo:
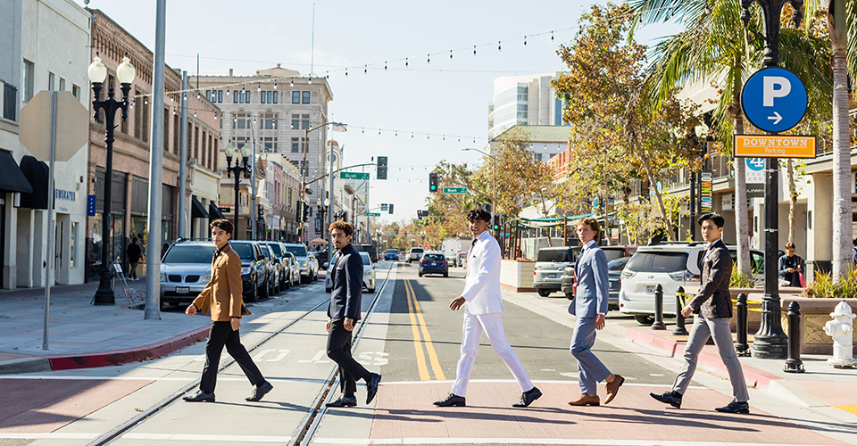
{"label": "black trousers of the man in tan-brown jacket", "polygon": [[223,346],[226,346],[226,351],[244,370],[250,384],[262,385],[265,383],[265,378],[262,372],[253,363],[250,358],[250,353],[241,344],[241,336],[238,335],[238,330],[232,330],[231,322],[212,322],[212,327],[208,333],[208,342],[205,343],[205,367],[203,368],[203,379],[199,383],[199,390],[212,393],[214,385],[217,384],[217,369],[220,366],[220,353],[223,352]]}

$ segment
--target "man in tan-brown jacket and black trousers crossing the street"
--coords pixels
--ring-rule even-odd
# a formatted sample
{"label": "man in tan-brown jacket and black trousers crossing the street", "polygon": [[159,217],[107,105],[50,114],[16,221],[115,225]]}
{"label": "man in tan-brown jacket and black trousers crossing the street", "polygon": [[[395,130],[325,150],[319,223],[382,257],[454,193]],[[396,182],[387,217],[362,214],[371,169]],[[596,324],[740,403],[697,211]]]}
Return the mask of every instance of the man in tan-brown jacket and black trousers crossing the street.
{"label": "man in tan-brown jacket and black trousers crossing the street", "polygon": [[205,343],[205,365],[203,378],[199,383],[199,392],[194,396],[184,397],[189,402],[214,402],[214,385],[217,384],[217,369],[220,365],[220,353],[226,346],[226,351],[235,359],[244,371],[250,384],[254,385],[253,392],[245,398],[246,401],[260,401],[265,393],[274,388],[262,376],[262,372],[250,358],[244,345],[241,344],[241,316],[250,314],[244,305],[244,284],[241,280],[241,258],[229,246],[232,237],[232,222],[227,219],[212,221],[212,242],[217,246],[212,258],[212,279],[205,285],[202,293],[196,296],[185,313],[190,316],[196,311],[211,312],[212,326]]}

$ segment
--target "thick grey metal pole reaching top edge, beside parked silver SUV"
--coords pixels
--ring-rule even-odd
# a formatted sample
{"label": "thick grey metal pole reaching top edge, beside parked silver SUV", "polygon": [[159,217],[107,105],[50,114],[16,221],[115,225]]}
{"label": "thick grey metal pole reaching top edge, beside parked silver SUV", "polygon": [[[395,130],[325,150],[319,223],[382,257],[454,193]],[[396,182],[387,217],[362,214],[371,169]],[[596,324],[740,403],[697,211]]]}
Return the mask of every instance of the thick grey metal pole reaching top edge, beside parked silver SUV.
{"label": "thick grey metal pole reaching top edge, beside parked silver SUV", "polygon": [[152,82],[152,150],[149,157],[149,214],[146,240],[145,319],[161,318],[161,193],[163,183],[164,43],[167,0],[158,0],[154,33],[154,80]]}

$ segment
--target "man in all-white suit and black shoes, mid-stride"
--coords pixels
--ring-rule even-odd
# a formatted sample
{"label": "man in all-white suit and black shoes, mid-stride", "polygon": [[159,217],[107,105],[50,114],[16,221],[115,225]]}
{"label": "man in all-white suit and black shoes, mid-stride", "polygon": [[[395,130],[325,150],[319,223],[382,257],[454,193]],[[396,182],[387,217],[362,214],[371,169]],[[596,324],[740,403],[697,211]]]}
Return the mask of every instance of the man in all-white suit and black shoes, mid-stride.
{"label": "man in all-white suit and black shoes, mid-stride", "polygon": [[520,364],[512,346],[506,342],[506,335],[503,333],[503,320],[500,318],[503,314],[503,298],[500,296],[500,245],[487,231],[491,224],[491,214],[482,209],[474,209],[467,213],[467,220],[470,233],[476,238],[473,239],[468,254],[464,291],[449,302],[450,310],[464,307],[462,358],[458,360],[458,367],[455,369],[452,391],[444,400],[435,401],[435,405],[465,405],[464,395],[467,393],[470,372],[484,333],[488,336],[491,347],[500,355],[520,385],[520,401],[512,404],[512,407],[526,408],[542,396],[542,392],[529,380],[527,371]]}

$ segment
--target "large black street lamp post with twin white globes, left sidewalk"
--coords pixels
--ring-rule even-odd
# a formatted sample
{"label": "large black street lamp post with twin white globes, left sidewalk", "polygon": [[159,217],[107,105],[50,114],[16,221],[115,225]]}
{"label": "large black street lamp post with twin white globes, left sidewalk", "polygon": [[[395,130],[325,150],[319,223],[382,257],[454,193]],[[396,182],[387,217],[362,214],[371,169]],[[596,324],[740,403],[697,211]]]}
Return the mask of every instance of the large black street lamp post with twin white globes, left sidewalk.
{"label": "large black street lamp post with twin white globes, left sidewalk", "polygon": [[107,129],[107,134],[104,137],[104,142],[107,144],[107,160],[104,166],[104,213],[101,222],[101,282],[96,290],[94,302],[96,305],[113,305],[116,303],[116,299],[113,295],[113,287],[110,281],[110,252],[112,251],[112,244],[109,243],[110,227],[112,226],[110,217],[110,186],[113,175],[113,130],[116,127],[113,123],[115,122],[116,111],[119,110],[122,111],[122,120],[128,119],[128,94],[131,90],[131,82],[134,81],[137,72],[134,66],[131,65],[126,53],[125,57],[122,58],[121,64],[116,69],[116,76],[119,78],[122,90],[122,100],[117,101],[113,99],[113,86],[111,84],[107,89],[107,99],[102,101],[101,90],[104,87],[104,78],[107,78],[107,67],[101,62],[101,58],[98,57],[97,53],[87,71],[89,80],[92,82],[92,92],[95,97],[92,101],[92,107],[96,111],[96,120],[98,120],[99,109],[104,111],[104,127]]}

